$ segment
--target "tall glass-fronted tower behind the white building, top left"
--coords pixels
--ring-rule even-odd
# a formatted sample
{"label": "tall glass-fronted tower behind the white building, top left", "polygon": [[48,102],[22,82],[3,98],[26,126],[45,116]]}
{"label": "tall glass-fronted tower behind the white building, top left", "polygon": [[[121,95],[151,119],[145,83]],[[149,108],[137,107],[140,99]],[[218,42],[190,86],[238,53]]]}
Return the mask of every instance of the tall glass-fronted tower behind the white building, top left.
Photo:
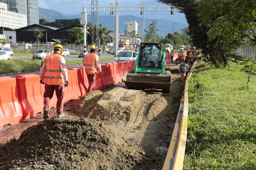
{"label": "tall glass-fronted tower behind the white building, top left", "polygon": [[0,0],[9,11],[27,16],[27,25],[39,24],[38,0]]}

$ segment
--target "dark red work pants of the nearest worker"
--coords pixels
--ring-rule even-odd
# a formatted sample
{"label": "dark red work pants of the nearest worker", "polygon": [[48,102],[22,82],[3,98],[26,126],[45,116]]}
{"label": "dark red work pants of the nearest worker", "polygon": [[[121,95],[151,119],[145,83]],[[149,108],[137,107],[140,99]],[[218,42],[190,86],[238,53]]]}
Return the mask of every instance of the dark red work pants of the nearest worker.
{"label": "dark red work pants of the nearest worker", "polygon": [[56,92],[57,96],[57,113],[63,113],[63,97],[64,97],[64,90],[63,90],[63,84],[60,85],[47,85],[45,84],[45,91],[44,91],[44,109],[47,109],[49,111],[50,107],[50,101],[52,99],[54,90]]}

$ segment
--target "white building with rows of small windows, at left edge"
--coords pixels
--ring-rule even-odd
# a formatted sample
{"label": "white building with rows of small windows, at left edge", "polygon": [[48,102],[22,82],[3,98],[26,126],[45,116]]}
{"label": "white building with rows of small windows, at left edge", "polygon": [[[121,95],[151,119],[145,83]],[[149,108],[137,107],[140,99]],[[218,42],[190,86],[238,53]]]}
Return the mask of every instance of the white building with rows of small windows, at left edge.
{"label": "white building with rows of small windows, at left edge", "polygon": [[27,17],[23,14],[0,9],[0,26],[22,28],[27,26]]}

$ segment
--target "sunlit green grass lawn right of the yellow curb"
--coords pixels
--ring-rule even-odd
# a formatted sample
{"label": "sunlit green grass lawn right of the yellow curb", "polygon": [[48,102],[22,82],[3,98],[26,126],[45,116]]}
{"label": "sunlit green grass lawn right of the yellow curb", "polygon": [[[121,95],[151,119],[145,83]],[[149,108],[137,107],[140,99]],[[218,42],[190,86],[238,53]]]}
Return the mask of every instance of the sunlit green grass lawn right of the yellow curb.
{"label": "sunlit green grass lawn right of the yellow curb", "polygon": [[183,170],[256,170],[256,76],[200,62],[189,80]]}

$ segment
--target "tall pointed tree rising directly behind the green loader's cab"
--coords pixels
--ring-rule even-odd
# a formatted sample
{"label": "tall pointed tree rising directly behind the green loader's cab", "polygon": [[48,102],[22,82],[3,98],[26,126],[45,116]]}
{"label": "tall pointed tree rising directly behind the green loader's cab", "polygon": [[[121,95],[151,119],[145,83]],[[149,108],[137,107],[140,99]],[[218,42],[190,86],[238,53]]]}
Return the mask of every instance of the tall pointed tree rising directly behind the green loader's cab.
{"label": "tall pointed tree rising directly behind the green loader's cab", "polygon": [[159,42],[161,37],[157,36],[157,31],[159,31],[159,29],[157,29],[157,20],[153,20],[148,26],[148,30],[145,30],[145,42]]}

